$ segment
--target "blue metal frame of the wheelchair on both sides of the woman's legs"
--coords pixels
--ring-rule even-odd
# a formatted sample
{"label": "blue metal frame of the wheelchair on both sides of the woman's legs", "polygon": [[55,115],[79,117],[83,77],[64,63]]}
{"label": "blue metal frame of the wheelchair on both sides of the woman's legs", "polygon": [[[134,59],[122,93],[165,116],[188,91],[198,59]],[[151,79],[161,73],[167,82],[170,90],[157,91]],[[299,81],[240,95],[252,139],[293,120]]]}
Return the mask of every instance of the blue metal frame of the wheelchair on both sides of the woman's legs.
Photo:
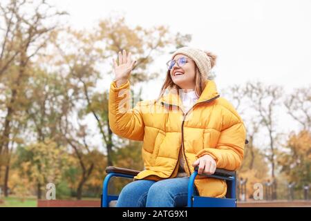
{"label": "blue metal frame of the wheelchair on both sides of the woman's legs", "polygon": [[[111,167],[113,168],[113,167]],[[107,170],[106,170],[107,171]],[[133,174],[107,172],[102,188],[102,207],[109,207],[111,200],[117,200],[118,195],[108,194],[108,184],[111,177],[135,177]],[[207,177],[225,180],[227,182],[226,198],[209,198],[194,194],[194,180],[198,175],[198,168],[196,167],[194,173],[191,174],[188,183],[188,199],[187,207],[236,207],[236,172],[227,171],[224,169],[216,169],[213,175],[205,175]]]}

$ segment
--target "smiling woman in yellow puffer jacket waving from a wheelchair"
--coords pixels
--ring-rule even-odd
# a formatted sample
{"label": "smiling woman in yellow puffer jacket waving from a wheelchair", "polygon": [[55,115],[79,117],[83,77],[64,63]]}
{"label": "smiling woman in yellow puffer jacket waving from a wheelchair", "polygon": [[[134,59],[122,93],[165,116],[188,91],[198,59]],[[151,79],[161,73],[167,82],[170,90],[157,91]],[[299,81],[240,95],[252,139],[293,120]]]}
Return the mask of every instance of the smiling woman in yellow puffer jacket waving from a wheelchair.
{"label": "smiling woman in yellow puffer jacket waving from a wheelchair", "polygon": [[135,66],[131,52],[113,60],[115,80],[109,94],[113,133],[143,141],[144,171],[122,189],[117,206],[186,206],[189,175],[198,166],[196,192],[223,198],[226,182],[202,176],[216,168],[241,166],[245,126],[227,100],[207,79],[216,56],[184,47],[167,62],[167,77],[157,100],[129,106],[129,76]]}

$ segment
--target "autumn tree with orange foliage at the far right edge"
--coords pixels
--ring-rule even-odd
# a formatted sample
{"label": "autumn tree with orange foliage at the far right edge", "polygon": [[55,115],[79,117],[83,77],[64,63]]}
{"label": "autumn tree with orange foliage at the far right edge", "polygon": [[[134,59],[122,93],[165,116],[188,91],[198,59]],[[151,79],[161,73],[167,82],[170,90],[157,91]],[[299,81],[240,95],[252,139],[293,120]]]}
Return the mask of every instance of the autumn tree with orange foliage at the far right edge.
{"label": "autumn tree with orange foliage at the far right edge", "polygon": [[299,124],[300,131],[290,133],[285,151],[278,161],[290,182],[301,188],[311,182],[311,88],[297,88],[284,101],[288,115]]}

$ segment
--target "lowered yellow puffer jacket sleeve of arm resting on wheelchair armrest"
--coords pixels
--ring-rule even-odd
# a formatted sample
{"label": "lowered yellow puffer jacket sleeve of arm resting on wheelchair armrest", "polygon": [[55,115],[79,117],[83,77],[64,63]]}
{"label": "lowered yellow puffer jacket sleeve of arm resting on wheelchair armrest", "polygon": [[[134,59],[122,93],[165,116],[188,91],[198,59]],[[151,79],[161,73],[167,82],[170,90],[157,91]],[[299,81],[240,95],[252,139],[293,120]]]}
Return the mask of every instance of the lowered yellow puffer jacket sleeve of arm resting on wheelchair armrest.
{"label": "lowered yellow puffer jacket sleeve of arm resting on wheelchair armrest", "polygon": [[226,112],[216,148],[204,148],[196,157],[211,155],[216,160],[217,168],[236,171],[243,160],[246,130],[241,117],[235,111]]}

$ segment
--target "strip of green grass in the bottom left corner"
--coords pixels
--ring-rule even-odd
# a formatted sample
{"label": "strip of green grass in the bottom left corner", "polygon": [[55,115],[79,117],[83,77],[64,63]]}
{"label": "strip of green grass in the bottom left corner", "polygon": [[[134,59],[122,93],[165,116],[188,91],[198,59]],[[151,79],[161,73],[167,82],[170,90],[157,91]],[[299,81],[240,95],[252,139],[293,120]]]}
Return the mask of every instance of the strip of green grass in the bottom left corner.
{"label": "strip of green grass in the bottom left corner", "polygon": [[0,207],[37,207],[37,198],[25,198],[23,201],[21,198],[9,196],[7,198],[1,198],[2,203]]}

